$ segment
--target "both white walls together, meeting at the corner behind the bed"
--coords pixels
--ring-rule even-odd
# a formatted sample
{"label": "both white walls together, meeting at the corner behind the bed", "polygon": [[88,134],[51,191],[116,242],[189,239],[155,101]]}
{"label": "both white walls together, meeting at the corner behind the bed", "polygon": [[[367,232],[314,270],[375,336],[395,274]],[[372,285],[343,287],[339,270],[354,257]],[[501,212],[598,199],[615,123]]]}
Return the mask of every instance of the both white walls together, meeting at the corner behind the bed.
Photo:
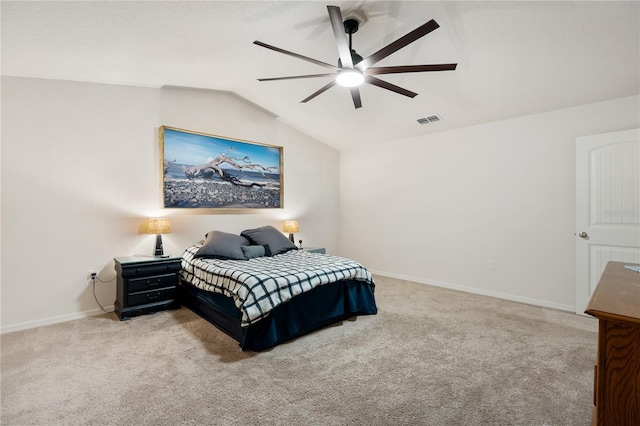
{"label": "both white walls together, meeting at the corner behind the bed", "polygon": [[[305,245],[373,272],[572,310],[575,138],[638,127],[638,105],[635,96],[340,154],[230,93],[3,77],[2,331],[95,313],[87,271],[108,280],[113,257],[150,253],[154,236],[137,232],[158,215],[171,218],[173,254],[211,229],[297,218]],[[285,207],[161,209],[160,125],[283,146]],[[115,283],[97,294],[111,305]]]}

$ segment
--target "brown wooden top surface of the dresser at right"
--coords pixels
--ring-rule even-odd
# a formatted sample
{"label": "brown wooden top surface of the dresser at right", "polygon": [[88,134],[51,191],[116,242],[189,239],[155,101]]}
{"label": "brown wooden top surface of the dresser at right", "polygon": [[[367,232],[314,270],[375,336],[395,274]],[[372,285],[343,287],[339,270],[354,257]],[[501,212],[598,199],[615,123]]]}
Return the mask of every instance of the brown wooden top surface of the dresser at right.
{"label": "brown wooden top surface of the dresser at right", "polygon": [[587,304],[587,314],[640,325],[640,273],[625,265],[639,266],[628,262],[607,264]]}

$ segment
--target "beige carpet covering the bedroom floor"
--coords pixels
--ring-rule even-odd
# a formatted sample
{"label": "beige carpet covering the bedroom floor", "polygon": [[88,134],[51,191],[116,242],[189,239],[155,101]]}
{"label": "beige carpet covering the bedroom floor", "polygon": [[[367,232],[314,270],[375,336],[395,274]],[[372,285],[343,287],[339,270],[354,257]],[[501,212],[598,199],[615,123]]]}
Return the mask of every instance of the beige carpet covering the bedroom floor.
{"label": "beige carpet covering the bedroom floor", "polygon": [[1,337],[2,425],[588,425],[597,323],[376,277],[379,313],[261,353],[187,309]]}

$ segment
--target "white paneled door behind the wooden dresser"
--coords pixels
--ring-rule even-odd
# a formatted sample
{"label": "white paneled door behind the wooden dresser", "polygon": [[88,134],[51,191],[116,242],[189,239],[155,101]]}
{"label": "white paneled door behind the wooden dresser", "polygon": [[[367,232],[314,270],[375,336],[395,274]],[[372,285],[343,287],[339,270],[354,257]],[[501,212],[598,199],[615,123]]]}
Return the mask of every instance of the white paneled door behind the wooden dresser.
{"label": "white paneled door behind the wooden dresser", "polygon": [[640,129],[576,139],[576,313],[610,260],[640,263]]}

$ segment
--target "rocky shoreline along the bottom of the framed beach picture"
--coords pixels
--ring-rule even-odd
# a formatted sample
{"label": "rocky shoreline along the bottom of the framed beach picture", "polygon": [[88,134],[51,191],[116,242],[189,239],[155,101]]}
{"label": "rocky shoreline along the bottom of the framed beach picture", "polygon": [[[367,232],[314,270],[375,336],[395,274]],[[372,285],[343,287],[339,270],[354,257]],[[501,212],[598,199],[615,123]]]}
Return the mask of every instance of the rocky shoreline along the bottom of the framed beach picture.
{"label": "rocky shoreline along the bottom of the framed beach picture", "polygon": [[168,208],[279,208],[280,188],[246,187],[210,179],[171,179],[164,182]]}

